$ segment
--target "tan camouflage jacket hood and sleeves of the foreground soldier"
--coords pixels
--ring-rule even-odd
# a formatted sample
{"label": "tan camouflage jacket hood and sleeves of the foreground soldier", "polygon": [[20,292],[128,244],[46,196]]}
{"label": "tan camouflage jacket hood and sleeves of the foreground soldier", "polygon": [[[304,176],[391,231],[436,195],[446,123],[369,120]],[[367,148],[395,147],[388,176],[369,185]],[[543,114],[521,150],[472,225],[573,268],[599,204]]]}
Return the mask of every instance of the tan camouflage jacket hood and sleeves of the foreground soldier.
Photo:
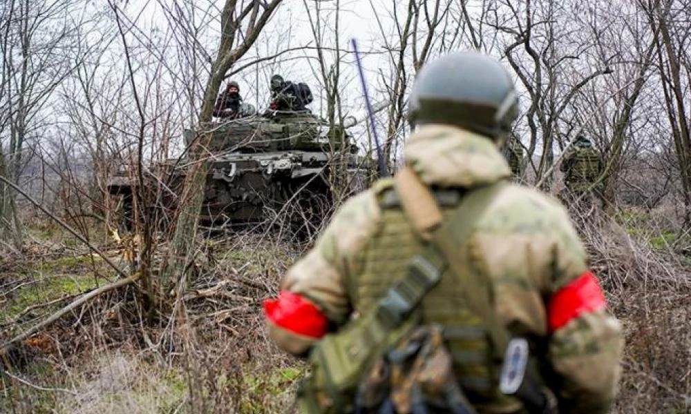
{"label": "tan camouflage jacket hood and sleeves of the foreground soldier", "polygon": [[[510,175],[489,139],[449,126],[424,126],[410,137],[404,155],[429,186],[470,189]],[[388,225],[378,199],[380,188],[375,184],[348,200],[281,283],[281,290],[314,302],[335,326],[363,311],[362,302],[352,297],[352,284],[363,272],[371,241]],[[484,215],[489,222],[479,224],[471,240],[482,271],[494,284],[499,319],[513,333],[536,339],[540,358],[554,373],[549,386],[571,408],[564,412],[606,412],[621,375],[621,327],[616,319],[598,310],[566,319],[556,330],[549,328],[551,299],[588,271],[585,250],[567,213],[557,201],[519,186],[502,192],[489,209]],[[492,222],[491,217],[498,218]],[[504,226],[510,230],[500,230]],[[272,324],[269,333],[296,355],[315,340]],[[520,406],[479,412],[518,413]]]}

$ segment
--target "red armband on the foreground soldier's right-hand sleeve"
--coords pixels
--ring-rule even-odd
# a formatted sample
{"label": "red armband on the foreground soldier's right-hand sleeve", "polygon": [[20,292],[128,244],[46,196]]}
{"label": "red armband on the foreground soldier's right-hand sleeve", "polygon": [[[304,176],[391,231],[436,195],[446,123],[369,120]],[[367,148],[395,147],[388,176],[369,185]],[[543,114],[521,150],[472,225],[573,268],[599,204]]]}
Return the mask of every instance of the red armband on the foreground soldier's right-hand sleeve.
{"label": "red armband on the foreground soldier's right-hand sleeve", "polygon": [[598,279],[591,272],[585,272],[551,297],[547,306],[549,331],[556,331],[584,313],[606,307],[605,293]]}

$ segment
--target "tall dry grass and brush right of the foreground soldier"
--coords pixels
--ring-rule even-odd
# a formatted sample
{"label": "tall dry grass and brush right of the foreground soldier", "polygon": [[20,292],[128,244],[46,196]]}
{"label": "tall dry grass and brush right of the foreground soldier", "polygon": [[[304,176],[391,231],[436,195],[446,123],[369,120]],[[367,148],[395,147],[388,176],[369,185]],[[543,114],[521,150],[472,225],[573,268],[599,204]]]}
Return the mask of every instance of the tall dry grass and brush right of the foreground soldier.
{"label": "tall dry grass and brush right of the foreground soldier", "polygon": [[657,242],[674,228],[670,217],[632,209],[616,219],[578,220],[591,266],[624,326],[621,413],[691,410],[691,260]]}

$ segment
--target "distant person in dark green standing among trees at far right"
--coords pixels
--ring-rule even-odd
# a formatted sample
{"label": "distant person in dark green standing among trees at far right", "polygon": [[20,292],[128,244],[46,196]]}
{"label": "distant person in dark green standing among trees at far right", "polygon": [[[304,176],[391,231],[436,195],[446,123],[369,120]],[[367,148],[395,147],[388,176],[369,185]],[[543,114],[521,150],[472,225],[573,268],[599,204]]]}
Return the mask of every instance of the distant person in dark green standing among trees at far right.
{"label": "distant person in dark green standing among trees at far right", "polygon": [[572,197],[590,193],[602,197],[602,184],[598,179],[603,173],[603,158],[589,139],[579,135],[559,167],[564,172],[564,184]]}

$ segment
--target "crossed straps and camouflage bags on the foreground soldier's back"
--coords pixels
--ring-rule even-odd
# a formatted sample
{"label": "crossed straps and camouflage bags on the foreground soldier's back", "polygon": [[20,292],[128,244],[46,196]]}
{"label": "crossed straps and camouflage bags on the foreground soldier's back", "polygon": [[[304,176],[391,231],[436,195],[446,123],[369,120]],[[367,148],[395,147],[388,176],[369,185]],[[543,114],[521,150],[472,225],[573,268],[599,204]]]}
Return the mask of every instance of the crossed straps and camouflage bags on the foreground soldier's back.
{"label": "crossed straps and camouflage bags on the foreground soldier's back", "polygon": [[[466,193],[446,220],[433,195],[412,170],[401,170],[396,184],[399,193],[406,193],[401,204],[413,227],[430,242],[423,253],[410,260],[406,275],[397,279],[375,306],[338,333],[325,335],[314,346],[310,375],[298,393],[302,413],[424,412],[414,410],[419,404],[437,404],[442,412],[474,412],[457,384],[458,379],[453,377],[439,328],[420,323],[418,305],[446,268],[459,276],[468,308],[482,320],[492,343],[492,364],[502,362],[504,351],[511,348],[513,341],[509,341],[508,331],[491,308],[488,282],[466,266],[465,258],[455,254],[470,235],[473,222],[505,184]],[[451,224],[455,229],[453,235]],[[527,346],[523,359],[510,359],[525,364]],[[498,374],[498,369],[493,371]],[[512,382],[507,389],[511,389],[502,392],[515,394],[530,408],[539,406],[539,412],[555,412],[546,409],[548,404],[541,391],[525,385],[534,382],[524,383],[524,372],[525,365],[509,370],[507,377]],[[517,381],[520,386],[515,386]]]}

